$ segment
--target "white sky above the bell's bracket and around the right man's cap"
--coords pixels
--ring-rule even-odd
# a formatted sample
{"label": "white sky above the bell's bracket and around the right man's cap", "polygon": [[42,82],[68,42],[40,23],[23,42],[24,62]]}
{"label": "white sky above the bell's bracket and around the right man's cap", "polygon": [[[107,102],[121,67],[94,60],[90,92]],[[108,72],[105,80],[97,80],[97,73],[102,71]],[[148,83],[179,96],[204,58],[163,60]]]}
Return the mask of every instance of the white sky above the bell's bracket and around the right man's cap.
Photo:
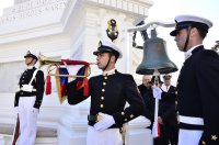
{"label": "white sky above the bell's bracket and around the right man's cap", "polygon": [[[153,7],[149,9],[146,21],[173,21],[178,14],[194,14],[212,21],[205,45],[211,47],[219,40],[219,1],[218,0],[151,0]],[[172,29],[171,29],[172,30]]]}

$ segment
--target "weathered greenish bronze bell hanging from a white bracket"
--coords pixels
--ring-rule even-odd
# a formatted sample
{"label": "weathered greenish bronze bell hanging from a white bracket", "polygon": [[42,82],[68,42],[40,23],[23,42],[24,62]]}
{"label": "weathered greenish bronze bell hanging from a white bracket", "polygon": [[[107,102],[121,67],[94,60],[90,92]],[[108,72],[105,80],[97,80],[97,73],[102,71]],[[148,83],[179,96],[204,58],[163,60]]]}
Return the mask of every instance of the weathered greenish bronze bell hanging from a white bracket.
{"label": "weathered greenish bronze bell hanging from a white bracket", "polygon": [[177,71],[176,65],[170,60],[165,41],[157,37],[155,29],[151,30],[151,38],[143,43],[143,59],[137,67],[136,72],[140,75],[153,75],[154,69],[160,74],[170,74]]}

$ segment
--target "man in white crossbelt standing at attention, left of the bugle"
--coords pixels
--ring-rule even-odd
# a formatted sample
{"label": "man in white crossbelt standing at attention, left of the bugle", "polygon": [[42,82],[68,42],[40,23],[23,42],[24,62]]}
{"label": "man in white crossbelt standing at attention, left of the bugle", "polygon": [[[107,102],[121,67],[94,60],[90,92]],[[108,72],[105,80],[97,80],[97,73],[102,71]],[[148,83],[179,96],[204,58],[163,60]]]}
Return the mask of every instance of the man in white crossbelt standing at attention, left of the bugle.
{"label": "man in white crossbelt standing at attention, left of the bugle", "polygon": [[37,114],[44,94],[44,72],[34,66],[36,55],[28,51],[24,58],[26,70],[21,75],[14,107],[20,119],[20,145],[34,145]]}

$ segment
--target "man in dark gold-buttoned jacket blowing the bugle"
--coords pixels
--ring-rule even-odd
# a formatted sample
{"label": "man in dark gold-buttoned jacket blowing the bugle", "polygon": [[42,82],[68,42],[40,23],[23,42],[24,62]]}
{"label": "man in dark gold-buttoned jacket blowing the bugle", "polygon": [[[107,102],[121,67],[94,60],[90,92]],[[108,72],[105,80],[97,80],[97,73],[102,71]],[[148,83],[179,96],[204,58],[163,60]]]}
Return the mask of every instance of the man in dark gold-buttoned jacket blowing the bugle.
{"label": "man in dark gold-buttoned jacket blowing the bugle", "polygon": [[[100,41],[93,54],[103,74],[89,80],[91,107],[87,145],[123,145],[119,129],[140,115],[145,103],[132,76],[115,68],[122,52],[114,43]],[[72,81],[68,85],[69,104],[77,104],[88,98],[83,96],[82,89],[77,90],[76,83]],[[129,103],[127,108],[126,102]]]}

